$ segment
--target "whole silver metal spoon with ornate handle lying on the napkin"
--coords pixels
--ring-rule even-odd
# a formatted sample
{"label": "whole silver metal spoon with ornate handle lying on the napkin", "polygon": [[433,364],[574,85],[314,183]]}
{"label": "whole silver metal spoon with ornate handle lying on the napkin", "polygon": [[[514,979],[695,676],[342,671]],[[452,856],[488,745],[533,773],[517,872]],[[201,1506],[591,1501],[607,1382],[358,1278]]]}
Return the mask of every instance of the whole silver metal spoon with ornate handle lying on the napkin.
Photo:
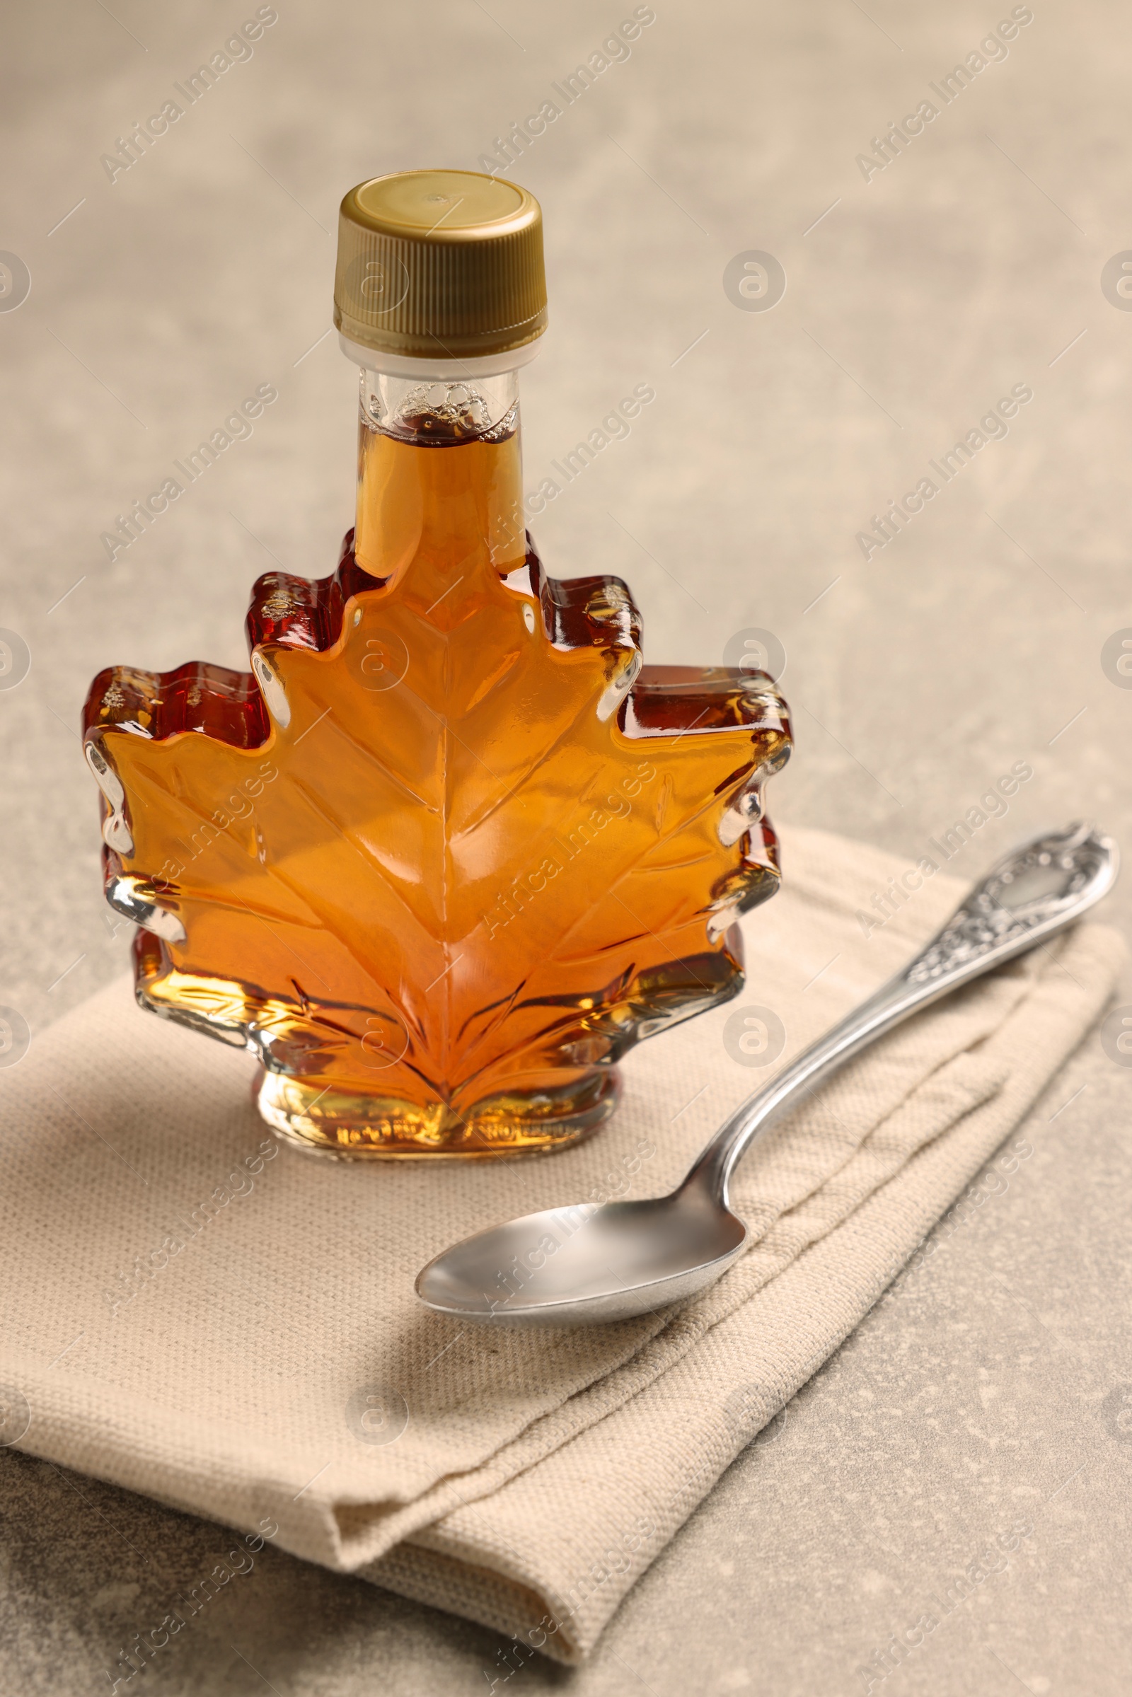
{"label": "whole silver metal spoon with ornate handle lying on the napkin", "polygon": [[728,1181],[755,1139],[910,1013],[1073,925],[1112,889],[1118,865],[1117,845],[1091,825],[1022,843],[903,972],[735,1110],[670,1196],[545,1208],[477,1232],[423,1268],[417,1297],[465,1322],[591,1325],[713,1285],[747,1244]]}

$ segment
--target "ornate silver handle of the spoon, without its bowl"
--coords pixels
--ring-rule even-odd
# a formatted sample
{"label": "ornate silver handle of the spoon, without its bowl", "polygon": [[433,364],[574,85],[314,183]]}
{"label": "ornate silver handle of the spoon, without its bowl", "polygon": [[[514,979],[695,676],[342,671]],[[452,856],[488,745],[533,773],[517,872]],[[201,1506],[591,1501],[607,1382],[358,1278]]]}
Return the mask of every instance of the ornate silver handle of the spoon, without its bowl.
{"label": "ornate silver handle of the spoon, without its bowl", "polygon": [[1112,889],[1118,869],[1115,842],[1091,825],[1047,832],[1012,850],[896,977],[735,1110],[682,1188],[704,1186],[726,1207],[737,1162],[782,1113],[910,1013],[1073,925]]}

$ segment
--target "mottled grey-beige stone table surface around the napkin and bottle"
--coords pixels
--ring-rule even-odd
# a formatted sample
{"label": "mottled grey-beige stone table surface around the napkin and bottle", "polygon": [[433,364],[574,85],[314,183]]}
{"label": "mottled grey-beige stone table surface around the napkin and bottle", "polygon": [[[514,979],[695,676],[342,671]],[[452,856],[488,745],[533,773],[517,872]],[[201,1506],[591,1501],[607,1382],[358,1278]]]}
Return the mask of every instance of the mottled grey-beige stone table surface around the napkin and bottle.
{"label": "mottled grey-beige stone table surface around the napkin and bottle", "polygon": [[[112,660],[243,665],[251,580],[326,574],[351,519],[355,377],[326,334],[338,199],[385,170],[504,166],[546,102],[509,166],[543,202],[552,290],[523,380],[528,489],[655,389],[546,502],[548,568],[630,579],[652,660],[774,633],[798,731],[781,818],[915,859],[1025,762],[952,871],[1073,816],[1132,843],[1127,10],[249,0],[255,17],[227,53],[244,14],[221,0],[5,20],[0,1001],[32,1032],[124,967],[78,759],[87,680]],[[642,27],[618,44],[623,20]],[[212,81],[187,88],[200,64]],[[126,163],[165,102],[180,115]],[[781,299],[750,255],[782,268]],[[261,384],[278,399],[255,433],[110,560],[100,535]],[[1030,399],[995,421],[1012,392]],[[930,499],[877,535],[922,479]],[[1113,921],[1130,905],[1125,879]],[[497,1634],[266,1549],[146,1678],[166,1697],[1127,1689],[1132,1071],[1113,1054],[1090,1039],[582,1670],[536,1660],[502,1683]],[[226,1548],[10,1451],[0,1509],[5,1692],[105,1690],[119,1646]]]}

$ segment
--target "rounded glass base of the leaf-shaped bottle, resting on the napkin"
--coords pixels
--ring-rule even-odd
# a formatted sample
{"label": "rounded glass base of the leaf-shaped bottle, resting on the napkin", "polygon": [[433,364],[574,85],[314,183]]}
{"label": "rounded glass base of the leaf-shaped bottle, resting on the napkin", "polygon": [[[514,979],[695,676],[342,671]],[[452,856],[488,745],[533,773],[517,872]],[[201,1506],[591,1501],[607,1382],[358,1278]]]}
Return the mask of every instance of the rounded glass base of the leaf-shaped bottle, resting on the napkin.
{"label": "rounded glass base of the leaf-shaped bottle, resting on the napkin", "polygon": [[489,1096],[463,1117],[443,1101],[417,1106],[282,1073],[261,1073],[253,1091],[282,1142],[345,1161],[468,1161],[567,1149],[609,1118],[619,1095],[621,1078],[611,1066],[553,1089]]}

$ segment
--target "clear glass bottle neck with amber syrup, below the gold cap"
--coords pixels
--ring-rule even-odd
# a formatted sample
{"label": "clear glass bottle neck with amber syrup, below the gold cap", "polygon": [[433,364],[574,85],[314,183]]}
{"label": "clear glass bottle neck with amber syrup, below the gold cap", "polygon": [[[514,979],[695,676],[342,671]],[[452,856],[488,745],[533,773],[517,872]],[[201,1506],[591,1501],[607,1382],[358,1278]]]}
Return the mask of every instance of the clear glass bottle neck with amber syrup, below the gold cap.
{"label": "clear glass bottle neck with amber syrup, below the gold cap", "polygon": [[[433,367],[433,372],[436,367]],[[446,594],[523,565],[518,372],[462,378],[361,368],[355,558]]]}

